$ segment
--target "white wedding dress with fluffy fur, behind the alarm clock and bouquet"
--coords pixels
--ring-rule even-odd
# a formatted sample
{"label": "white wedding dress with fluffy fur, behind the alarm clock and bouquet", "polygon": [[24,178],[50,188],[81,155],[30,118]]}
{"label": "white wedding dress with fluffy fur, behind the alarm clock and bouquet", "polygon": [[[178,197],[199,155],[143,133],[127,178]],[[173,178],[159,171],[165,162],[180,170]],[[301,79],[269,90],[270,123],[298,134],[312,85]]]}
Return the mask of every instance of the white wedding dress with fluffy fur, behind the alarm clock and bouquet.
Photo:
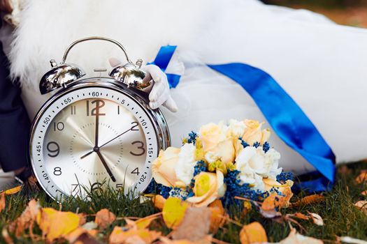
{"label": "white wedding dress with fluffy fur, behind the alarm clock and bouquet", "polygon": [[[246,91],[204,65],[242,62],[278,81],[338,162],[367,158],[366,29],[256,0],[31,0],[10,52],[12,73],[21,78],[31,118],[49,98],[38,92],[48,61],[61,61],[66,47],[86,36],[120,41],[132,60],[152,61],[162,45],[178,45],[166,71],[182,75],[171,89],[179,111],[162,109],[173,146],[212,121],[266,121]],[[75,47],[68,61],[94,76],[93,68],[108,68],[111,56],[124,60],[112,45],[94,41]],[[282,154],[280,166],[286,170],[301,174],[313,169],[275,133],[270,142]]]}

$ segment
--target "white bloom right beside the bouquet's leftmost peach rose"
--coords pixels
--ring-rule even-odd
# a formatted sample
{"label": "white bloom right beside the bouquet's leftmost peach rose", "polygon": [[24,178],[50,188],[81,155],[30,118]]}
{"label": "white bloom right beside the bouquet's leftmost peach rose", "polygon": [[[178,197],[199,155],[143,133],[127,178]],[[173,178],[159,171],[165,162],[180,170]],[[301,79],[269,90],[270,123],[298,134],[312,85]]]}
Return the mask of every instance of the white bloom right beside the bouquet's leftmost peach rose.
{"label": "white bloom right beside the bouquet's leftmost peach rose", "polygon": [[194,177],[194,167],[196,165],[195,149],[194,144],[187,143],[181,147],[181,151],[178,153],[175,174],[178,181],[182,181],[185,185],[189,185]]}

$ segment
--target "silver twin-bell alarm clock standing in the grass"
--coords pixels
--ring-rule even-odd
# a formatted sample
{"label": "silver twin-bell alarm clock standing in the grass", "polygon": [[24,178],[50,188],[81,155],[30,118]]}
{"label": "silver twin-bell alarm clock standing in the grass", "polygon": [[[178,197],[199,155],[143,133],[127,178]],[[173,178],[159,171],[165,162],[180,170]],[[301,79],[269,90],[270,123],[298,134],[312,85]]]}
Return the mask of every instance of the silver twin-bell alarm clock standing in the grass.
{"label": "silver twin-bell alarm clock standing in the grass", "polygon": [[[127,63],[109,77],[82,79],[82,68],[66,63],[72,47],[87,40],[114,43]],[[76,40],[62,63],[40,82],[42,94],[59,89],[41,107],[31,125],[29,158],[39,185],[52,199],[87,197],[108,187],[137,197],[152,179],[152,162],[171,144],[159,109],[150,109],[153,81],[132,63],[116,40],[89,37]]]}

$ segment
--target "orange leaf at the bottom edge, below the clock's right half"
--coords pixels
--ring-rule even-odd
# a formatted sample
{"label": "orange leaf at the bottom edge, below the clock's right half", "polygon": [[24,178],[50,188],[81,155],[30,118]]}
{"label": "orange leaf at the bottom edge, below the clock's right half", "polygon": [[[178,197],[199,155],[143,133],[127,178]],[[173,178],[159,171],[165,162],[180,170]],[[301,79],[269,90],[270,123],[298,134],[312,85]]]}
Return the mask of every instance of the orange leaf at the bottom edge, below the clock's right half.
{"label": "orange leaf at the bottom edge, below the clock's right half", "polygon": [[[132,221],[134,222],[134,221]],[[115,227],[110,234],[108,242],[110,244],[122,244],[122,243],[136,243],[146,244],[152,243],[154,240],[161,236],[161,232],[150,231],[149,229],[137,229],[126,227]]]}

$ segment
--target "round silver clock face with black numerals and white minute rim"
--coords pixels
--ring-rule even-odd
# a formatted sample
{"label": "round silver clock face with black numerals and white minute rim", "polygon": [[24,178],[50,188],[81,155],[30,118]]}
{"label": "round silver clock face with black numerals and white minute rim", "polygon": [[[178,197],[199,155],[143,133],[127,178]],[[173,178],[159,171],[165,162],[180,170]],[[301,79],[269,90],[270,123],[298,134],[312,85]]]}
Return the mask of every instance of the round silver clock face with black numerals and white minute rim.
{"label": "round silver clock face with black numerals and white minute rim", "polygon": [[152,178],[159,151],[143,107],[122,91],[80,87],[45,106],[31,137],[31,162],[48,194],[86,197],[108,185],[134,196]]}

